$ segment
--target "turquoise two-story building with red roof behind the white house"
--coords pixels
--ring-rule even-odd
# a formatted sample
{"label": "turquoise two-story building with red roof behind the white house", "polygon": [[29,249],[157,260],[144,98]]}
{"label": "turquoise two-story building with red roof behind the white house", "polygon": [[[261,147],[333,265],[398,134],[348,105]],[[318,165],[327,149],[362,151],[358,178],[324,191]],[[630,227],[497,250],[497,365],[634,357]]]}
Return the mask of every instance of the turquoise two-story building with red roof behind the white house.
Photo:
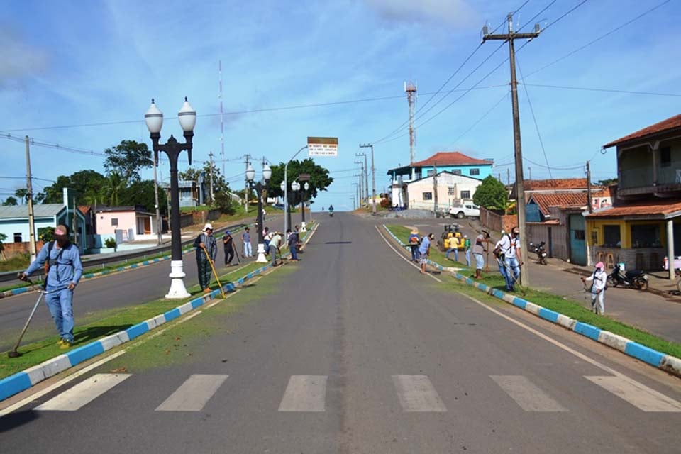
{"label": "turquoise two-story building with red roof behind the white house", "polygon": [[425,160],[395,167],[387,172],[392,180],[392,205],[405,207],[409,204],[407,194],[409,182],[432,177],[440,172],[449,172],[452,175],[462,175],[482,181],[492,174],[492,165],[494,165],[493,160],[476,159],[458,151],[441,151]]}

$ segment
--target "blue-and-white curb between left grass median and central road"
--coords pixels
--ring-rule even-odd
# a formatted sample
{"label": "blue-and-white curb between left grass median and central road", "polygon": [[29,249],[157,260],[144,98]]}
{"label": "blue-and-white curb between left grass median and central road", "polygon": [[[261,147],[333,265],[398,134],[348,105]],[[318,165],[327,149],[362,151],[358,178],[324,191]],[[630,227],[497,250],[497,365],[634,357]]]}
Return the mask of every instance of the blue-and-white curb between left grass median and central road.
{"label": "blue-and-white curb between left grass median and central road", "polygon": [[[309,233],[305,236],[304,244],[308,243],[309,239],[316,231],[317,226],[319,226],[319,223],[315,223],[314,228],[310,229]],[[290,252],[284,253],[284,255],[290,255]],[[263,265],[258,268],[258,270],[249,272],[247,275],[240,277],[236,280],[236,283],[228,282],[227,284],[224,284],[222,288],[226,292],[234,292],[236,287],[243,286],[247,280],[253,279],[253,277],[260,275],[271,267],[272,263]],[[220,289],[215,289],[209,294],[187,301],[181,306],[177,306],[175,309],[170,309],[170,311],[166,311],[163,314],[137,323],[126,330],[118,331],[118,333],[112,334],[111,336],[106,336],[105,338],[82,345],[82,347],[74,348],[74,350],[70,350],[68,353],[41,362],[39,365],[29,367],[28,369],[17,372],[9,377],[5,377],[0,380],[0,401],[13,396],[14,394],[26,391],[26,389],[33,387],[35,384],[38,384],[53,375],[57,375],[70,367],[74,367],[81,362],[94,358],[96,355],[101,355],[101,353],[106,352],[106,350],[111,350],[111,348],[132,341],[134,338],[138,338],[144,333],[148,333],[164,323],[175,320],[179,318],[179,316],[203,306],[207,301],[211,301],[220,295]]]}

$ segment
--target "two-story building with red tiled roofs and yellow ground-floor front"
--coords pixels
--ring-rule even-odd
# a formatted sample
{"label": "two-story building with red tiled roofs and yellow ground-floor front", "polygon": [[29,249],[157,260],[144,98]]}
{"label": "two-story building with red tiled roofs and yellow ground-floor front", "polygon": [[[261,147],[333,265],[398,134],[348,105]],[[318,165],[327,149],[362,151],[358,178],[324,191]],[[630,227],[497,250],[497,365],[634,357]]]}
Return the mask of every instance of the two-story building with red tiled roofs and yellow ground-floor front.
{"label": "two-story building with red tiled roofs and yellow ground-floor front", "polygon": [[681,114],[603,145],[613,147],[616,196],[586,216],[589,263],[660,270],[681,251]]}

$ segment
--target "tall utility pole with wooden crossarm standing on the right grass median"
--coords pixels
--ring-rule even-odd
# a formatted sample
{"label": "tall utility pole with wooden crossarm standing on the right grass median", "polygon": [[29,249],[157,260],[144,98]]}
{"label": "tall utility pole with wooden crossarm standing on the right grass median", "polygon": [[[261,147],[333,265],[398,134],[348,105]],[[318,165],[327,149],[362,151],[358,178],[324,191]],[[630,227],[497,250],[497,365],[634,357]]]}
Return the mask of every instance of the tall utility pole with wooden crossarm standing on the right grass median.
{"label": "tall utility pole with wooden crossarm standing on the right grass median", "polygon": [[[509,42],[509,62],[511,64],[511,104],[513,106],[513,135],[514,135],[514,152],[516,164],[516,205],[518,206],[518,228],[520,231],[520,238],[526,238],[526,219],[525,219],[525,188],[523,177],[523,152],[520,138],[520,113],[518,109],[518,81],[516,80],[516,50],[514,48],[514,40],[528,39],[532,40],[539,36],[541,28],[536,23],[532,33],[516,33],[513,31],[513,14],[506,17],[509,21],[509,33],[504,34],[490,34],[487,26],[482,28],[482,42],[488,40],[504,40]],[[525,253],[527,258],[527,253]],[[522,285],[530,284],[529,267],[525,267],[520,274],[520,283]]]}

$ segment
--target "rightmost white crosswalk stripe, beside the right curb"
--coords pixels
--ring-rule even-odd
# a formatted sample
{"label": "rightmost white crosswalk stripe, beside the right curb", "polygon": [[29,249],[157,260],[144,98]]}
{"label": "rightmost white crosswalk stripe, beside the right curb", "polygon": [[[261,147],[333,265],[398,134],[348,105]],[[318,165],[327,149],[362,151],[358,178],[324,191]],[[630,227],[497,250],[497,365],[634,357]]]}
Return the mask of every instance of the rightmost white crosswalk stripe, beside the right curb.
{"label": "rightmost white crosswalk stripe, beside the right curb", "polygon": [[650,389],[645,384],[636,382],[636,380],[622,376],[585,376],[585,378],[643,411],[681,411],[681,404],[679,402],[664,394],[660,394],[655,389]]}

